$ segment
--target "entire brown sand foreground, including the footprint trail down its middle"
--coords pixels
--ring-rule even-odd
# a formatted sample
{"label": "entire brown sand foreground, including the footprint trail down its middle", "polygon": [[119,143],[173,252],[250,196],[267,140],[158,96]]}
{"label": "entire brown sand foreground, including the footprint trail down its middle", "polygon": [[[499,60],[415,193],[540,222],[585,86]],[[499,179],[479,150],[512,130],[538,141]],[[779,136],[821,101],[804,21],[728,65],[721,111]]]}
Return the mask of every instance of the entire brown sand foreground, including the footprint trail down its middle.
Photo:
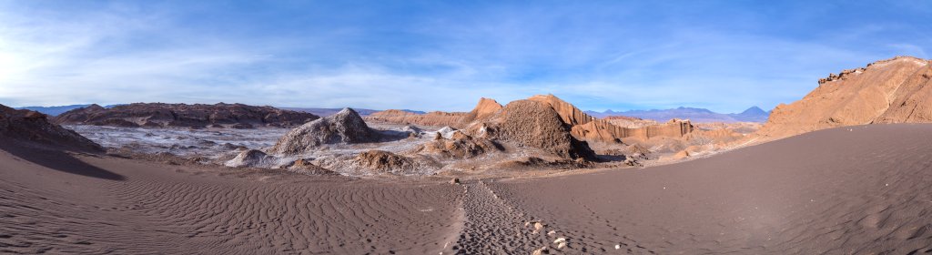
{"label": "entire brown sand foreground, including the footprint trail down its middle", "polygon": [[5,149],[0,253],[930,253],[929,155],[932,125],[870,125],[457,186]]}

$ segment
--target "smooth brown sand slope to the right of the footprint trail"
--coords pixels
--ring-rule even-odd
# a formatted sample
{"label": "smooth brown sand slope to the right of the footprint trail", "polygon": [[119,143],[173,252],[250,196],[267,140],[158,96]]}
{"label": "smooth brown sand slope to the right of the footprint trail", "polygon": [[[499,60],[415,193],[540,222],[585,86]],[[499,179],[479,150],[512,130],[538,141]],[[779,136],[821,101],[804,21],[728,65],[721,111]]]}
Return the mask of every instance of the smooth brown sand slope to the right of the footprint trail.
{"label": "smooth brown sand slope to the right of the footprint trail", "polygon": [[570,253],[932,253],[930,124],[844,127],[686,163],[489,186],[567,237]]}

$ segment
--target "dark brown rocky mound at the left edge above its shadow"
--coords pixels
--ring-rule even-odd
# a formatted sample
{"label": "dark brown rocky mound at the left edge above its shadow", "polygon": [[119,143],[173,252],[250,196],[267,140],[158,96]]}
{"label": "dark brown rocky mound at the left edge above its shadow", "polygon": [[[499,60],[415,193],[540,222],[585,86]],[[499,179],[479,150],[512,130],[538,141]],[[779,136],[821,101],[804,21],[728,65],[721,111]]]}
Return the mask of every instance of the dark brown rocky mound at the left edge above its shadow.
{"label": "dark brown rocky mound at the left edge above its shadow", "polygon": [[45,114],[0,105],[0,146],[13,144],[45,149],[103,151],[103,147],[88,138],[50,122]]}

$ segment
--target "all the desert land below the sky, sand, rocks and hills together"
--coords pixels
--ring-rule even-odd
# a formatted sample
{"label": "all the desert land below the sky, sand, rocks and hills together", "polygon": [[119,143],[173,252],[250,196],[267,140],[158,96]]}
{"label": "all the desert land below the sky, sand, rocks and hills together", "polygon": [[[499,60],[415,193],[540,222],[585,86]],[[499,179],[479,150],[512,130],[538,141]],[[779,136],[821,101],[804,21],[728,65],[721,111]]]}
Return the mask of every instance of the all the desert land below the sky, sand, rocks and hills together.
{"label": "all the desert land below the sky, sand, rocks and hills together", "polygon": [[763,123],[596,118],[553,94],[0,106],[0,253],[928,254],[930,75],[845,70]]}

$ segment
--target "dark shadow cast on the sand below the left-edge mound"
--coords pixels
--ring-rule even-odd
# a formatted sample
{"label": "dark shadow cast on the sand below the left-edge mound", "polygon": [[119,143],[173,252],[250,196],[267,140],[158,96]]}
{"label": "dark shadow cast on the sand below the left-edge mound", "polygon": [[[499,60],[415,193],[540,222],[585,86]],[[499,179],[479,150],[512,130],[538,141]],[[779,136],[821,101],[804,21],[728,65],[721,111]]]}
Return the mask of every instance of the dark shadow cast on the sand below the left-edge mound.
{"label": "dark shadow cast on the sand below the left-edge mound", "polygon": [[109,180],[126,179],[126,177],[120,176],[117,173],[104,170],[103,168],[91,165],[89,163],[84,163],[76,159],[74,156],[61,150],[34,149],[17,146],[3,146],[0,147],[0,150],[7,151],[13,156],[21,158],[30,163],[35,163],[69,174]]}

